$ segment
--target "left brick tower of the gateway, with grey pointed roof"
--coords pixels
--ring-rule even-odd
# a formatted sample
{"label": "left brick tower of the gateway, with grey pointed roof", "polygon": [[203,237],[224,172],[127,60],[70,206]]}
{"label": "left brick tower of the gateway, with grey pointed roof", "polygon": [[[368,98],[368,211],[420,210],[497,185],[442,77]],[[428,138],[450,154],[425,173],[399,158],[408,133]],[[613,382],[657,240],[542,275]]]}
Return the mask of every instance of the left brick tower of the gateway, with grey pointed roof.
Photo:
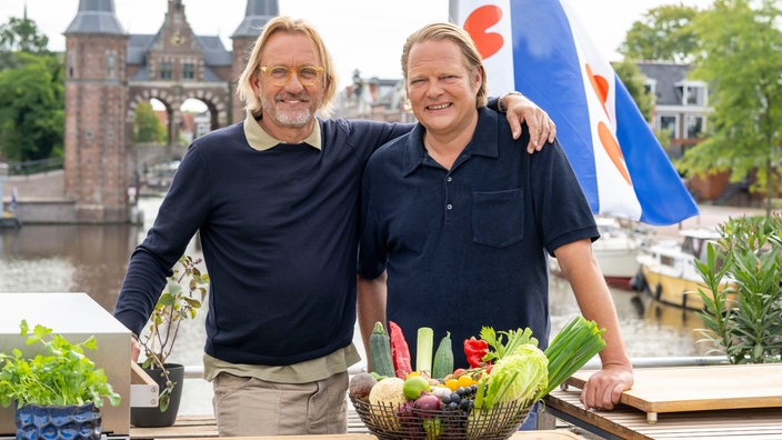
{"label": "left brick tower of the gateway, with grey pointed roof", "polygon": [[113,0],[80,0],[66,36],[66,196],[76,221],[128,221],[128,36]]}

